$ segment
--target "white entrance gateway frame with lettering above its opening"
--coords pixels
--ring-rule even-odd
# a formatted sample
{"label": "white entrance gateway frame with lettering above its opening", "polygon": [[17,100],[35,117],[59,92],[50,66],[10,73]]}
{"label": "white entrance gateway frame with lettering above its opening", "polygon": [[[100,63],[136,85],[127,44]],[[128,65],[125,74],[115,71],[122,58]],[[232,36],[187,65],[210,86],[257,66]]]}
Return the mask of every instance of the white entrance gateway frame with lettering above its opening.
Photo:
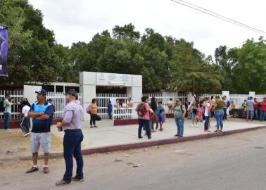
{"label": "white entrance gateway frame with lettering above its opening", "polygon": [[82,93],[84,120],[89,120],[89,115],[86,113],[85,108],[89,106],[92,99],[96,98],[96,86],[126,87],[127,96],[132,98],[134,106],[141,101],[141,75],[126,75],[107,72],[80,72],[80,92]]}

